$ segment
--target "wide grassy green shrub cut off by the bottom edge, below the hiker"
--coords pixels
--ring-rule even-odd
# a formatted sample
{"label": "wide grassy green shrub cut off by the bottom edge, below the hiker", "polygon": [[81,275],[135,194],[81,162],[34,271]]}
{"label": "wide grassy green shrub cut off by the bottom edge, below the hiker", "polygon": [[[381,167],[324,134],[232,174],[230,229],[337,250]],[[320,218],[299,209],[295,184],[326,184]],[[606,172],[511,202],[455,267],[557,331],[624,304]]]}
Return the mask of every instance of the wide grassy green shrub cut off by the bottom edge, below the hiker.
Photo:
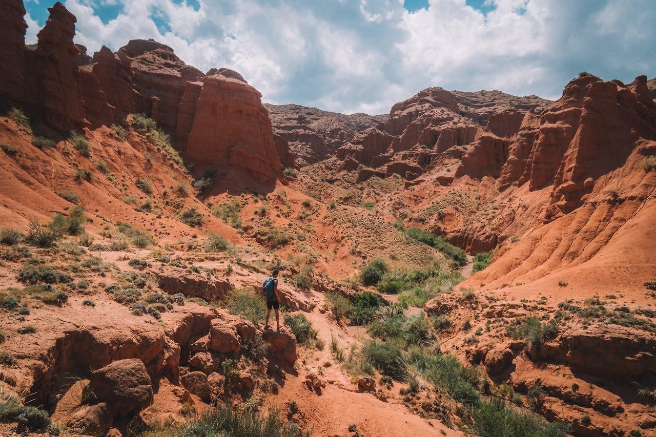
{"label": "wide grassy green shrub cut off by the bottom edge, below the hiker", "polygon": [[180,425],[154,425],[142,437],[231,436],[231,437],[310,437],[294,423],[285,423],[277,410],[259,415],[255,409],[243,411],[232,404],[219,404]]}

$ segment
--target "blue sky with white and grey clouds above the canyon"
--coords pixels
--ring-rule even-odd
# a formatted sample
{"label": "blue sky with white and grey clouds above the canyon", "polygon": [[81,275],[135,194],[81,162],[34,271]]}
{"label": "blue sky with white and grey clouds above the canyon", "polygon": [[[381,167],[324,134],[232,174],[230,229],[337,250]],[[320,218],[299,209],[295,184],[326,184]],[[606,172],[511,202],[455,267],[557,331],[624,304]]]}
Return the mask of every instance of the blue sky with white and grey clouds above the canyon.
{"label": "blue sky with white and grey clouds above the canyon", "polygon": [[[52,0],[26,0],[28,43]],[[264,102],[386,114],[426,87],[556,99],[582,70],[656,76],[655,0],[63,0],[97,51],[154,38]]]}

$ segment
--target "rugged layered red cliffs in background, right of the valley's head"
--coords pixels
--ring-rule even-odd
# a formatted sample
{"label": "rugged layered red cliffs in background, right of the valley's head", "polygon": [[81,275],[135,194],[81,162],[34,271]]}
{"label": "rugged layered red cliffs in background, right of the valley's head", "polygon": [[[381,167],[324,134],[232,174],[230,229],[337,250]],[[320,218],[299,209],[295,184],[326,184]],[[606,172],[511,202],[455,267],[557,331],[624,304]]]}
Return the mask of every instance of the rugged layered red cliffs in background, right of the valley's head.
{"label": "rugged layered red cliffs in background, right of the valley's head", "polygon": [[[443,165],[451,148],[475,144],[483,153],[470,150],[461,175],[475,169],[472,177],[499,177],[510,138],[520,129],[525,112],[541,112],[548,104],[537,96],[429,88],[392,106],[386,121],[341,146],[337,157],[347,170],[364,165],[386,177],[396,173],[412,180]],[[373,173],[363,173],[358,180],[369,175]]]}

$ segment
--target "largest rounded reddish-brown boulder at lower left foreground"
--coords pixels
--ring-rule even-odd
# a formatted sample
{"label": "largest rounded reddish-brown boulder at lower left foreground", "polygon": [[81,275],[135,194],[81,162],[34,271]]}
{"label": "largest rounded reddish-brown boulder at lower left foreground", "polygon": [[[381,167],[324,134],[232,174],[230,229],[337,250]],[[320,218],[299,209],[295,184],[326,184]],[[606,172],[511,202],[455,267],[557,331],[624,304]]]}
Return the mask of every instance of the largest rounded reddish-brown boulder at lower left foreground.
{"label": "largest rounded reddish-brown boulder at lower left foreground", "polygon": [[136,358],[115,361],[94,371],[89,390],[118,417],[134,415],[153,402],[152,381],[144,363]]}

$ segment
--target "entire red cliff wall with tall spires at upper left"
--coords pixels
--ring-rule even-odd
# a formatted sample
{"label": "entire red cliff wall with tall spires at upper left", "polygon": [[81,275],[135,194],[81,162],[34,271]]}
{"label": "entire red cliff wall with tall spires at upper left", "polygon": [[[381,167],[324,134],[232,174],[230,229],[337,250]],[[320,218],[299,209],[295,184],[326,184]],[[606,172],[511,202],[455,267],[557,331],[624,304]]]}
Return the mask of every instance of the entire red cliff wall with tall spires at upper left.
{"label": "entire red cliff wall with tall spires at upper left", "polygon": [[35,46],[25,45],[21,1],[0,6],[0,98],[38,114],[67,133],[123,123],[142,112],[201,165],[244,170],[257,180],[281,177],[294,165],[289,146],[272,133],[260,93],[239,73],[222,68],[207,74],[186,65],[171,47],[152,39],[133,40],[113,53],[102,47],[92,58],[73,43],[75,16],[62,3]]}

